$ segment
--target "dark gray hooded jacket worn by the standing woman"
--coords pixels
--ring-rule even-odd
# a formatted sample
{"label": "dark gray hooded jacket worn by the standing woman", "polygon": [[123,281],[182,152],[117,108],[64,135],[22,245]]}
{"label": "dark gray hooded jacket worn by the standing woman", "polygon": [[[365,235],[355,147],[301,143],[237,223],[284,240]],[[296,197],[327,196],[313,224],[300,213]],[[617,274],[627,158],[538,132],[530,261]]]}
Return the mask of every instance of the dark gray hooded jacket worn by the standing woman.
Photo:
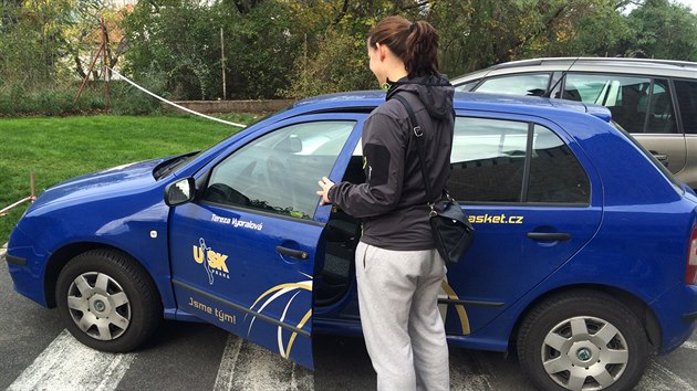
{"label": "dark gray hooded jacket worn by the standing woman", "polygon": [[445,77],[403,78],[387,92],[387,102],[363,125],[366,182],[336,183],[329,199],[363,219],[361,241],[382,249],[412,251],[434,247],[426,190],[415,136],[399,94],[412,105],[424,130],[428,180],[440,194],[450,175],[455,112],[454,88]]}

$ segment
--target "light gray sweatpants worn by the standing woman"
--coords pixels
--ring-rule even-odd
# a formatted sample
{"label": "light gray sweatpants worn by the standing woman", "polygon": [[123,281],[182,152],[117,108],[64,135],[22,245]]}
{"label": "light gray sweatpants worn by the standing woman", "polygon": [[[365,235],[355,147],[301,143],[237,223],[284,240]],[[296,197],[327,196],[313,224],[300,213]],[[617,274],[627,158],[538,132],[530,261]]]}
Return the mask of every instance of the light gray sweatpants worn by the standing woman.
{"label": "light gray sweatpants worn by the standing woman", "polygon": [[358,305],[377,390],[448,390],[448,345],[438,292],[444,261],[434,250],[356,249]]}

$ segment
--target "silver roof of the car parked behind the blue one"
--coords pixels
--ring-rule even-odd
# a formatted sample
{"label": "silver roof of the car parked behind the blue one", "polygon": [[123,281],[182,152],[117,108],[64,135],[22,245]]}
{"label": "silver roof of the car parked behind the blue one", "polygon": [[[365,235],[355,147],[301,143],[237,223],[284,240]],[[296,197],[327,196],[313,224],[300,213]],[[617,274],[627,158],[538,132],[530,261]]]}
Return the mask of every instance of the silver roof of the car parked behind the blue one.
{"label": "silver roof of the car parked behind the blue one", "polygon": [[452,84],[458,85],[486,75],[545,71],[649,74],[654,76],[697,78],[697,63],[687,61],[626,57],[542,57],[493,65],[458,76],[452,80]]}

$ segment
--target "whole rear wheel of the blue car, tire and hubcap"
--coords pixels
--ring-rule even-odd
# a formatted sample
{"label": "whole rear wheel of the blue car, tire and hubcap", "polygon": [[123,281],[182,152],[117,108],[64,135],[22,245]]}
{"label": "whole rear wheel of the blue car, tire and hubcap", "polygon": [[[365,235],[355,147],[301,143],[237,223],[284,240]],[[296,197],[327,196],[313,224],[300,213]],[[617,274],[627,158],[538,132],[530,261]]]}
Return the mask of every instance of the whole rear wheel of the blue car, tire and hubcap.
{"label": "whole rear wheel of the blue car, tire and hubcap", "polygon": [[586,290],[537,305],[517,346],[522,369],[540,390],[631,390],[649,355],[637,317],[615,298]]}

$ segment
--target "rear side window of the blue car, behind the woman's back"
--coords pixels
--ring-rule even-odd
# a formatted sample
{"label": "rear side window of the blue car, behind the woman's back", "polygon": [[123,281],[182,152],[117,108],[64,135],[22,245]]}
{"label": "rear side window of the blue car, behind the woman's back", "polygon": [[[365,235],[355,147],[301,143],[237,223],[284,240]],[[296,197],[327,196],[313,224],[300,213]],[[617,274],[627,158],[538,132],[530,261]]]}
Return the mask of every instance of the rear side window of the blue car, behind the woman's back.
{"label": "rear side window of the blue car, behind the woman's back", "polygon": [[590,202],[585,171],[562,139],[540,125],[531,130],[528,123],[458,117],[451,168],[448,190],[465,202]]}

